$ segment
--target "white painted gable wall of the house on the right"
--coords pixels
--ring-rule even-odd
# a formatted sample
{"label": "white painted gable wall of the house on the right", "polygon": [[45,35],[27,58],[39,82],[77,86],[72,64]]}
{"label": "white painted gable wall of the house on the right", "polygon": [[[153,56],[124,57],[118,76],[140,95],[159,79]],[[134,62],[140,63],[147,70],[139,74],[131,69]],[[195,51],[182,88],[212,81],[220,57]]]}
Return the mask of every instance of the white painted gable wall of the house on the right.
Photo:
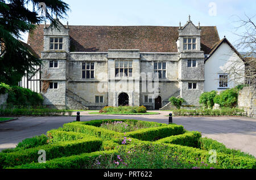
{"label": "white painted gable wall of the house on the right", "polygon": [[226,42],[223,42],[216,52],[205,62],[205,92],[213,90],[221,91],[218,89],[218,74],[220,73],[229,74],[228,88],[236,87],[236,85],[244,83],[245,81],[245,65],[242,59],[238,57]]}

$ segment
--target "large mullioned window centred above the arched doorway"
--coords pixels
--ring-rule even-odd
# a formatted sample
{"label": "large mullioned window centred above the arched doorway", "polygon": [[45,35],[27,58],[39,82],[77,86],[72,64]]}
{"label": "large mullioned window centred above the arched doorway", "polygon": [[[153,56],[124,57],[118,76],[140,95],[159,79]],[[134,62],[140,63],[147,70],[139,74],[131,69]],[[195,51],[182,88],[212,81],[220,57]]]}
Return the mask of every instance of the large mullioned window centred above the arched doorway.
{"label": "large mullioned window centred above the arched doorway", "polygon": [[[116,66],[117,62],[118,62],[118,67]],[[120,63],[120,62],[122,62],[122,63]],[[126,62],[127,62],[127,67],[125,67]],[[131,67],[130,67],[130,63],[131,63]],[[121,64],[123,65],[122,67],[121,67]],[[114,66],[115,66],[115,78],[123,78],[123,77],[132,78],[133,77],[133,61],[132,60],[115,60]],[[118,73],[117,73],[117,70],[118,70]],[[121,72],[121,70],[122,70],[122,72]],[[125,76],[126,70],[127,70],[127,76]],[[131,70],[131,72],[130,72],[130,70]],[[131,74],[131,76],[130,76],[130,74]]]}

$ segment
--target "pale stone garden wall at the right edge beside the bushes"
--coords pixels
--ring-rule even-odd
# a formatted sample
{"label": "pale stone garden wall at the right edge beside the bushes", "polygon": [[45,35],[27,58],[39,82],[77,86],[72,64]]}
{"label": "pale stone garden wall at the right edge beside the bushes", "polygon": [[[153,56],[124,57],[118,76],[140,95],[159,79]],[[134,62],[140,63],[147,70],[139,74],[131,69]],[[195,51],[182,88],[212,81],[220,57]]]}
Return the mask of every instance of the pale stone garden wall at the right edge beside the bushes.
{"label": "pale stone garden wall at the right edge beside the bushes", "polygon": [[244,87],[238,95],[238,108],[243,108],[249,117],[256,118],[256,93],[251,87]]}

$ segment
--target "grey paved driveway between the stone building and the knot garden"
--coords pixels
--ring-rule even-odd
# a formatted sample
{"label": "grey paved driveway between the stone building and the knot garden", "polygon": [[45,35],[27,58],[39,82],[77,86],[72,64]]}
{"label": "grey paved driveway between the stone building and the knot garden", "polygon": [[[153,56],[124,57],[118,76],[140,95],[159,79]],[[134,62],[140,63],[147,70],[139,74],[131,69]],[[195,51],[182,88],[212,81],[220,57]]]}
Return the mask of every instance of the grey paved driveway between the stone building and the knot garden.
{"label": "grey paved driveway between the stone building and the knot garden", "polygon": [[[168,112],[159,115],[90,115],[81,112],[81,121],[93,119],[138,119],[168,123]],[[75,115],[76,113],[74,113]],[[0,151],[13,148],[26,138],[46,134],[48,130],[75,121],[76,117],[20,117],[16,121],[0,123]],[[173,122],[189,131],[200,131],[204,137],[224,143],[228,148],[240,149],[256,156],[256,119],[247,117],[174,117]]]}

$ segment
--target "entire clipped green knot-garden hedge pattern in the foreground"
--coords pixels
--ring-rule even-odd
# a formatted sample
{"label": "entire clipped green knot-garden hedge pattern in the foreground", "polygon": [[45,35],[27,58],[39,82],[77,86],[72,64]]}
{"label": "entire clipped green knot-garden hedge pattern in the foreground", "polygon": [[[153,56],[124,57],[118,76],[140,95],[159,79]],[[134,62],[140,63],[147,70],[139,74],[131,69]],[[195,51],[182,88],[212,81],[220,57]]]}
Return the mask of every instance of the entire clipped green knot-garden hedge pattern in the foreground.
{"label": "entire clipped green knot-garden hedge pattern in the foreground", "polygon": [[[102,123],[116,121],[143,125],[147,128],[124,134],[100,127]],[[216,163],[210,163],[210,149],[207,149],[210,146],[200,144],[200,132],[186,131],[183,126],[175,124],[104,119],[67,123],[61,128],[48,131],[47,136],[46,145],[0,153],[0,168],[119,168],[120,154],[131,151],[135,153],[138,148],[152,147],[162,148],[168,155],[177,155],[189,165],[207,162],[208,167],[214,168],[256,168],[256,159],[253,156],[244,155],[242,152],[235,155],[231,150],[216,149]],[[218,148],[218,145],[215,147]],[[40,149],[46,152],[45,163],[38,162]],[[122,162],[122,165],[122,168],[126,167],[125,162]]]}

